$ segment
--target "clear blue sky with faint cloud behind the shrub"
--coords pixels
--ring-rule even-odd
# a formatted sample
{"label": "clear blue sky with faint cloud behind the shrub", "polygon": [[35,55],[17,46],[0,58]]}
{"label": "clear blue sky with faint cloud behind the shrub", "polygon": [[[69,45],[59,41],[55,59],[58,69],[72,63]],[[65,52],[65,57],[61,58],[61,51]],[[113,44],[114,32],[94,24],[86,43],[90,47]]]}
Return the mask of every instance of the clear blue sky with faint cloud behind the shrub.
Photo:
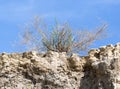
{"label": "clear blue sky with faint cloud behind the shrub", "polygon": [[56,18],[75,29],[91,30],[107,23],[107,37],[93,48],[120,41],[120,0],[0,0],[0,52],[19,51],[18,35],[35,16],[48,25]]}

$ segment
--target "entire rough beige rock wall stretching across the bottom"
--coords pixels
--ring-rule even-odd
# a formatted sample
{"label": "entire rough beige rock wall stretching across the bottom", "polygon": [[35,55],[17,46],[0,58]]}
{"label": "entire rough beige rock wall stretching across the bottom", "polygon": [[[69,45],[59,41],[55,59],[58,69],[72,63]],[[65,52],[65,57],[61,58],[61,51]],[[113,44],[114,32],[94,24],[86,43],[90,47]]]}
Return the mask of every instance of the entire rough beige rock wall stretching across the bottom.
{"label": "entire rough beige rock wall stretching across the bottom", "polygon": [[120,44],[92,49],[84,57],[2,53],[0,89],[120,89]]}

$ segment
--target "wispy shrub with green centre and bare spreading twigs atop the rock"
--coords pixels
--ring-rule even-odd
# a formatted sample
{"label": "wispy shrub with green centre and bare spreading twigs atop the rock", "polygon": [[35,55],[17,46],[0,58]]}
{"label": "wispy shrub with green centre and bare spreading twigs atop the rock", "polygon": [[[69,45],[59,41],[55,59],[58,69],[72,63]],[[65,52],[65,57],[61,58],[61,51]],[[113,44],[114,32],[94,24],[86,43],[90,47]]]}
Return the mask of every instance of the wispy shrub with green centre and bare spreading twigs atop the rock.
{"label": "wispy shrub with green centre and bare spreading twigs atop the rock", "polygon": [[41,23],[37,17],[34,22],[24,29],[22,43],[29,50],[56,51],[56,52],[80,52],[86,50],[94,41],[99,40],[105,33],[107,25],[89,30],[75,30],[65,23],[47,30],[47,26]]}

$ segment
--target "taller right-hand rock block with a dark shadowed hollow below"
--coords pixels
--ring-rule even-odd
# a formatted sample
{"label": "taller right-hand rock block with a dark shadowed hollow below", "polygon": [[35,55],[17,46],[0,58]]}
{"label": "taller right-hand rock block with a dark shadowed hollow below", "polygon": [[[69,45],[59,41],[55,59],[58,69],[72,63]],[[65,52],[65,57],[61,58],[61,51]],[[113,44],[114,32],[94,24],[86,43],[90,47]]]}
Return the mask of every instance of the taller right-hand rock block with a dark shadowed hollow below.
{"label": "taller right-hand rock block with a dark shadowed hollow below", "polygon": [[80,89],[120,89],[120,44],[89,52]]}

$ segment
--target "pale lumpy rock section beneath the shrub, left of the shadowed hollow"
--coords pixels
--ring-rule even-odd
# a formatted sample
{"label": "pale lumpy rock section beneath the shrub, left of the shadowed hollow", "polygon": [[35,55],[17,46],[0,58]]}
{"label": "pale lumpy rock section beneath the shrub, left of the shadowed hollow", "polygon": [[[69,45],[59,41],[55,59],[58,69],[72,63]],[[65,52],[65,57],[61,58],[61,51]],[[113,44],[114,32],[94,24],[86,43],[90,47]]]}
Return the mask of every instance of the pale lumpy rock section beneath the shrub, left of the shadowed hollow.
{"label": "pale lumpy rock section beneath the shrub, left of the shadowed hollow", "polygon": [[66,53],[0,55],[0,89],[79,89],[82,72],[71,71]]}

